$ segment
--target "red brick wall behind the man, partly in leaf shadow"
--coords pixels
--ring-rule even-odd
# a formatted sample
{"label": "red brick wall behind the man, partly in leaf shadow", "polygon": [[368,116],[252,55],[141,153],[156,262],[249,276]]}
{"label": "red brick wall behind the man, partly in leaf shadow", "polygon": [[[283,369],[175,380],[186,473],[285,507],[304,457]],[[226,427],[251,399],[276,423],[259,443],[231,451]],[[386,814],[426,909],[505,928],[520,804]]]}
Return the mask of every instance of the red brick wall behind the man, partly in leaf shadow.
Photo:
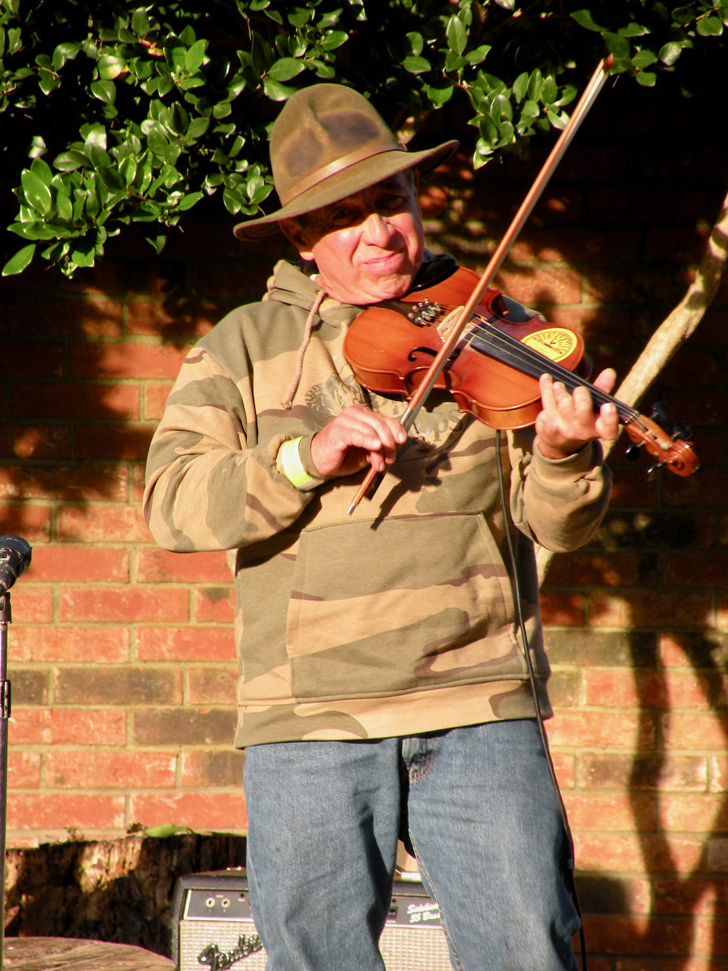
{"label": "red brick wall behind the man, partly in leaf shadow", "polygon": [[[597,368],[626,374],[691,279],[728,187],[713,128],[697,102],[606,90],[513,248],[500,285],[579,329]],[[432,247],[482,268],[543,153],[450,165],[424,197]],[[203,214],[161,259],[132,234],[73,282],[34,266],[0,285],[0,531],[33,545],[10,630],[10,845],[245,829],[225,557],[159,551],[139,503],[185,348],[281,251]],[[648,482],[615,450],[599,536],[543,589],[592,971],[728,968],[727,324],[725,281],[645,398],[693,423],[701,470]]]}

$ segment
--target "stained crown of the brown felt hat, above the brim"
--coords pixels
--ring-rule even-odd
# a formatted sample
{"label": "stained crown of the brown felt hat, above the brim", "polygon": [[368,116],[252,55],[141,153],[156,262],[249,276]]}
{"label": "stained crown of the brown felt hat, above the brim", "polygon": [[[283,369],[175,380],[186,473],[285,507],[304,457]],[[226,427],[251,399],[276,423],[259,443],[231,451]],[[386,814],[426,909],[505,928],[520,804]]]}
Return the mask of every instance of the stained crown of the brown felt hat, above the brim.
{"label": "stained crown of the brown felt hat, above the brim", "polygon": [[341,84],[314,84],[286,102],[271,132],[271,166],[285,204],[348,156],[365,158],[401,146],[363,95]]}

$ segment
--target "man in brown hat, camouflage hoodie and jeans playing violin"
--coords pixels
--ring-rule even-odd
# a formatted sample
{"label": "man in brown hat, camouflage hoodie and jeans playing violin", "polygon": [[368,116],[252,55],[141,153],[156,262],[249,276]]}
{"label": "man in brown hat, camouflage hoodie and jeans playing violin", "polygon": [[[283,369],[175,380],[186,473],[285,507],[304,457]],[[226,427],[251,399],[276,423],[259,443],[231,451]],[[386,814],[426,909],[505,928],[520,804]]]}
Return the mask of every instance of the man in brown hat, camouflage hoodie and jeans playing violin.
{"label": "man in brown hat, camouflage hoodie and jeans playing violin", "polygon": [[[399,837],[454,967],[576,967],[521,628],[548,714],[534,542],[593,535],[615,411],[545,376],[535,430],[501,444],[435,391],[408,437],[403,402],[359,385],[344,353],[363,307],[452,272],[424,248],[416,187],[454,147],[405,151],[346,87],[295,94],[271,136],[281,209],[236,235],[281,230],[301,263],[281,261],[262,301],[189,353],[149,452],[157,542],[234,554],[236,745],[269,971],[381,971]],[[376,509],[347,516],[370,464],[388,473]]]}

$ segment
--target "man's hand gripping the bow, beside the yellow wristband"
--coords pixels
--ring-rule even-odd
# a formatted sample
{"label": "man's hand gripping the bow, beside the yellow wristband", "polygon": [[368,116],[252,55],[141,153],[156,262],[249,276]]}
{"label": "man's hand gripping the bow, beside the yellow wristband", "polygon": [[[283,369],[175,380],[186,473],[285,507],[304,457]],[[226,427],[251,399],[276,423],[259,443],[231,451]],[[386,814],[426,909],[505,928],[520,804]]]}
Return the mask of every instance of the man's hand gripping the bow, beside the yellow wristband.
{"label": "man's hand gripping the bow, beside the yellow wristband", "polygon": [[350,476],[367,465],[383,472],[406,441],[407,432],[397,419],[351,405],[315,433],[311,459],[322,479]]}

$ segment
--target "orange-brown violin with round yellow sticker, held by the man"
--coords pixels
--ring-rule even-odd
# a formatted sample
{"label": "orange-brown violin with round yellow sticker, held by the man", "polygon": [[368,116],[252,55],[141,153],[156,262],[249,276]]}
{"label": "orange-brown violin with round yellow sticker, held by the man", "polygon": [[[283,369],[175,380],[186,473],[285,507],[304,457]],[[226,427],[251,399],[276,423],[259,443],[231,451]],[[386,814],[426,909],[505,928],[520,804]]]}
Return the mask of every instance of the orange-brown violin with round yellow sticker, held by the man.
{"label": "orange-brown violin with round yellow sticker, held by the man", "polygon": [[[479,280],[464,267],[449,269],[445,279],[414,287],[398,300],[374,304],[350,324],[344,353],[360,385],[412,398]],[[633,443],[628,458],[638,457],[644,448],[655,459],[650,472],[667,466],[678,476],[692,475],[700,463],[692,442],[686,440],[688,426],[677,425],[668,434],[658,410],[645,418],[590,385],[587,362],[578,333],[531,315],[488,286],[433,386],[446,389],[460,411],[501,430],[535,422],[542,409],[542,374],[550,374],[569,391],[588,387],[595,409],[606,402],[615,406]]]}

